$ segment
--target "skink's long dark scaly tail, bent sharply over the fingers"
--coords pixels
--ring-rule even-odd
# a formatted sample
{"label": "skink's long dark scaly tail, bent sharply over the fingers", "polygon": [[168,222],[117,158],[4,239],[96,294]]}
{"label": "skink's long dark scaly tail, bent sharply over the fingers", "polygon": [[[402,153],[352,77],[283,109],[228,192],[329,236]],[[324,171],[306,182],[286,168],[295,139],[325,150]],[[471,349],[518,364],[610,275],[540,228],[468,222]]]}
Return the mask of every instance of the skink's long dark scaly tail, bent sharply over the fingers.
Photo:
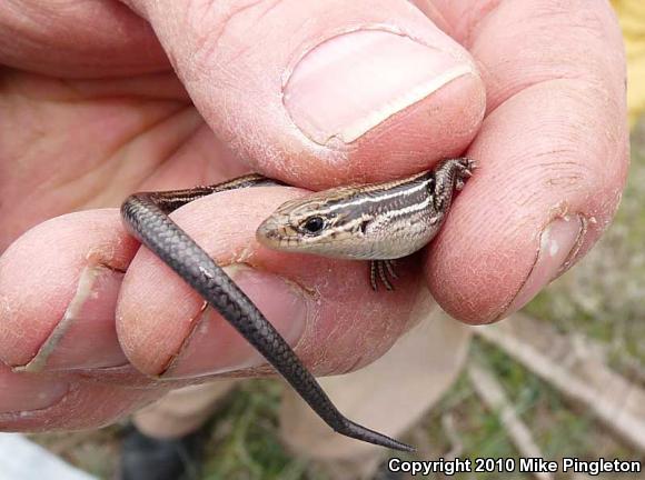
{"label": "skink's long dark scaly tail, bent sharply over the fingers", "polygon": [[170,211],[210,193],[272,183],[276,182],[261,176],[247,176],[212,187],[135,193],[123,202],[121,216],[131,233],[218,310],[329,427],[358,440],[394,450],[413,451],[414,449],[405,443],[345,418],[254,302],[208,253],[168,217]]}

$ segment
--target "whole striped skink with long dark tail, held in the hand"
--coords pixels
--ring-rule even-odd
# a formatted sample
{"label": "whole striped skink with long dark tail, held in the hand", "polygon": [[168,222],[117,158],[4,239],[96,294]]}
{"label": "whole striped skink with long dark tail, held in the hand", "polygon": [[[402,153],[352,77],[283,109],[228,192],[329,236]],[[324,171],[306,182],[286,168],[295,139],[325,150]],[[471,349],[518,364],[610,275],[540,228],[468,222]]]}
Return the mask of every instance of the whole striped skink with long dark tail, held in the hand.
{"label": "whole striped skink with long dark tail, held in the hand", "polygon": [[[257,231],[260,243],[285,251],[371,260],[370,280],[391,289],[390,261],[428,243],[449,210],[453,192],[475,162],[450,159],[434,170],[386,183],[340,187],[289,201]],[[259,174],[167,192],[135,193],[121,206],[129,231],[252,344],[334,430],[358,440],[411,451],[411,447],[345,418],[302,366],[291,347],[254,302],[168,213],[198,198],[238,188],[281,184]]]}

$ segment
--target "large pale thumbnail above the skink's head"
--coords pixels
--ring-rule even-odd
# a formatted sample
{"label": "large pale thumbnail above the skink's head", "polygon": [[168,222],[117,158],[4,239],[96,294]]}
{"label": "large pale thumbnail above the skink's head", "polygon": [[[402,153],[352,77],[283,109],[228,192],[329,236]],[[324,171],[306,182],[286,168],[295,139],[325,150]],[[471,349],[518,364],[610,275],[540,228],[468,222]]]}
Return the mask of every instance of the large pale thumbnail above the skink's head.
{"label": "large pale thumbnail above the skink's head", "polygon": [[294,68],[284,88],[292,121],[311,140],[358,139],[380,122],[473,73],[465,57],[384,30],[327,40]]}

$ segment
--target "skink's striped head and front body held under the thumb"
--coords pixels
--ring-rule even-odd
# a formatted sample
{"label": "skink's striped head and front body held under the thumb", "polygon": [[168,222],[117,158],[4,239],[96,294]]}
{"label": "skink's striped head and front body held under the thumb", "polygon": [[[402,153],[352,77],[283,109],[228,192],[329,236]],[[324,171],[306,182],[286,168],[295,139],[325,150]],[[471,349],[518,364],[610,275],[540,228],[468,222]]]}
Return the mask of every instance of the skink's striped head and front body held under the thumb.
{"label": "skink's striped head and front body held under the thumb", "polygon": [[444,160],[434,170],[403,180],[339,187],[280,206],[258,228],[256,238],[275,250],[340,259],[371,260],[387,290],[396,278],[393,260],[425,247],[437,234],[475,161]]}

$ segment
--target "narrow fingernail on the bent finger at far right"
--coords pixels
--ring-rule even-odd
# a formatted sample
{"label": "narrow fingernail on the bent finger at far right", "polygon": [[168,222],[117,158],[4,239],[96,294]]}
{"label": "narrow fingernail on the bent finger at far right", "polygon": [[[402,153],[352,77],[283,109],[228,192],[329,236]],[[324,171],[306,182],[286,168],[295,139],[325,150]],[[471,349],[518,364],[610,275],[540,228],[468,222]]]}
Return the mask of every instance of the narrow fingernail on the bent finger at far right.
{"label": "narrow fingernail on the bent finger at far right", "polygon": [[569,254],[579,247],[582,233],[583,220],[578,216],[556,219],[543,230],[537,260],[530,273],[508,308],[498,318],[519,310],[563,271]]}

